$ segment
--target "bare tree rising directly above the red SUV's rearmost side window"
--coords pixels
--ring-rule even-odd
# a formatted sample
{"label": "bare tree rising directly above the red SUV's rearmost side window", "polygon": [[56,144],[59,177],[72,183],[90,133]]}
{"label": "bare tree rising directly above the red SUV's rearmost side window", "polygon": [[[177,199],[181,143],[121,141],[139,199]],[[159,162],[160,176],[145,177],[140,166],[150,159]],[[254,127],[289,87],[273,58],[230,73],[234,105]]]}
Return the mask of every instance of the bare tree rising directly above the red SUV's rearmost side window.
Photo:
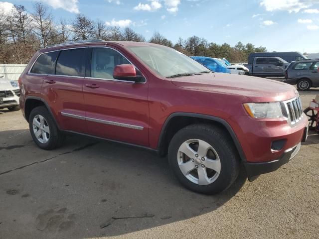
{"label": "bare tree rising directly above the red SUV's rearmost side window", "polygon": [[34,21],[33,31],[40,37],[42,46],[46,47],[49,43],[49,38],[53,35],[53,17],[51,11],[49,11],[48,7],[43,5],[42,2],[37,1],[34,3],[32,16]]}

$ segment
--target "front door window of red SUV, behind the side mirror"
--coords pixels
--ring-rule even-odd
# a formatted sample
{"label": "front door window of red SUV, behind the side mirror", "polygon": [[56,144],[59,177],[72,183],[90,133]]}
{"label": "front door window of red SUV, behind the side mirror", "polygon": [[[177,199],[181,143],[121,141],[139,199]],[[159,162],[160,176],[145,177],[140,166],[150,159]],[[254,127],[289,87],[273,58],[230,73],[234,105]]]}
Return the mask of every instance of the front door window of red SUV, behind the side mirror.
{"label": "front door window of red SUV, behind the side mirror", "polygon": [[110,48],[93,48],[91,77],[112,80],[114,68],[122,64],[131,63],[119,52]]}

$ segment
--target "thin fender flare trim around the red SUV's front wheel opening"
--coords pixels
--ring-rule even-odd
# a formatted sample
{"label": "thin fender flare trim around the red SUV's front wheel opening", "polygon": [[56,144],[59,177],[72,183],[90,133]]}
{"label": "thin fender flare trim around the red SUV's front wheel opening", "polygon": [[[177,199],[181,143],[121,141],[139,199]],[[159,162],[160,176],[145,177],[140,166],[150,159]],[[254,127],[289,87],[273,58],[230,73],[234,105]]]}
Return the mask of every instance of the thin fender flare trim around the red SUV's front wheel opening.
{"label": "thin fender flare trim around the red SUV's front wheel opening", "polygon": [[162,128],[161,128],[161,131],[160,131],[160,137],[159,137],[159,141],[158,141],[158,147],[157,147],[157,151],[160,152],[160,149],[161,147],[163,146],[163,138],[166,134],[166,129],[167,129],[167,125],[169,123],[169,121],[171,119],[173,119],[174,117],[180,117],[180,116],[184,116],[184,117],[191,117],[191,118],[197,118],[197,119],[208,119],[208,120],[211,120],[211,121],[215,121],[215,122],[218,122],[218,123],[221,123],[225,128],[226,130],[228,131],[228,133],[230,134],[231,138],[233,139],[233,142],[235,144],[235,147],[239,153],[239,156],[241,158],[241,160],[243,162],[247,162],[247,159],[246,159],[246,156],[245,156],[245,153],[244,153],[244,150],[236,136],[236,133],[235,131],[233,130],[233,128],[230,126],[230,124],[225,120],[225,119],[221,119],[219,117],[215,117],[215,116],[209,116],[209,115],[203,115],[203,114],[197,114],[197,113],[187,113],[187,112],[176,112],[176,113],[172,113],[171,115],[169,115]]}

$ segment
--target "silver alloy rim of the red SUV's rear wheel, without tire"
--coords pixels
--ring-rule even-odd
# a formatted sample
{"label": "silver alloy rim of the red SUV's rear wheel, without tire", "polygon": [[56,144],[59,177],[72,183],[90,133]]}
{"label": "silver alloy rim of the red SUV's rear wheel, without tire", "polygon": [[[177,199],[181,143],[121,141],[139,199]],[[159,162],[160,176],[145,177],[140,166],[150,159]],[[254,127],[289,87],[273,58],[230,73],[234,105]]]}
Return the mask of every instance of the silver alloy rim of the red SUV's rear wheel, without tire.
{"label": "silver alloy rim of the red SUV's rear wheel, without tire", "polygon": [[36,115],[32,121],[33,132],[40,143],[47,143],[50,138],[50,128],[46,119],[41,115]]}

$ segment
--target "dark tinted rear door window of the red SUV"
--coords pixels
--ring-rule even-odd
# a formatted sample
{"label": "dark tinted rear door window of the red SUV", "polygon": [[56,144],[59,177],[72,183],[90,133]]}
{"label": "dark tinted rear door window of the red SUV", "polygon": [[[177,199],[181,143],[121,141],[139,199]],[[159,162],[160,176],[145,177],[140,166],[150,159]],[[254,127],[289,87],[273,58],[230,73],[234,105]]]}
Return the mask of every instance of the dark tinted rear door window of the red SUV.
{"label": "dark tinted rear door window of the red SUV", "polygon": [[56,75],[84,76],[84,51],[85,48],[61,51],[56,62]]}

